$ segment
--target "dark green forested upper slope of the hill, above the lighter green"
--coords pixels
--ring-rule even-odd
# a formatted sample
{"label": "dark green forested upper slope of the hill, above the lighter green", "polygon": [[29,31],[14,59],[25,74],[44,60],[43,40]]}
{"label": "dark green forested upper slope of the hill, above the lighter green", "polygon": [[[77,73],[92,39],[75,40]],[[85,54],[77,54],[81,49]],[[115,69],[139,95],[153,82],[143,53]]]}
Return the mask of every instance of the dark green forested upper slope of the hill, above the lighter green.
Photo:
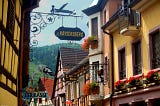
{"label": "dark green forested upper slope of the hill, above the lighter green", "polygon": [[42,64],[49,67],[53,73],[56,70],[57,53],[60,47],[81,48],[80,44],[60,43],[51,46],[34,47],[30,52],[30,58],[36,65]]}

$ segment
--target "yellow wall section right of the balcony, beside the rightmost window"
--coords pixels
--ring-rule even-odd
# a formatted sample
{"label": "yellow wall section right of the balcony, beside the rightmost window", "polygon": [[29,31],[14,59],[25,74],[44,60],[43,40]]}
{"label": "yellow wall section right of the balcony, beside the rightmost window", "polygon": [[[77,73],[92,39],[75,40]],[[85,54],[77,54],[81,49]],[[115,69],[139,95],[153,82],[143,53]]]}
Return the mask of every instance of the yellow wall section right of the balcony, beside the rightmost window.
{"label": "yellow wall section right of the balcony, beside the rightmost window", "polygon": [[141,19],[142,19],[142,35],[143,35],[143,69],[144,73],[147,73],[147,71],[150,70],[150,56],[149,56],[149,32],[153,30],[155,27],[160,26],[160,1],[157,0],[155,4],[151,5],[141,13]]}

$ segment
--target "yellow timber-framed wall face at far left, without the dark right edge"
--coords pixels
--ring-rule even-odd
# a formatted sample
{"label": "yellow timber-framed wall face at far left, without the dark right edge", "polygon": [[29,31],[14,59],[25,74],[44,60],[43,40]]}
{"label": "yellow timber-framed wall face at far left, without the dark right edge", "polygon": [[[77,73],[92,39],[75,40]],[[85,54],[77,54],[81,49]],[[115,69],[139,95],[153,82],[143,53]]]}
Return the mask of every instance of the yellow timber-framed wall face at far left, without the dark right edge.
{"label": "yellow timber-framed wall face at far left, without the dark right edge", "polygon": [[21,23],[21,0],[16,0],[14,11],[14,30],[8,29],[8,4],[10,0],[0,1],[0,105],[18,105],[18,65]]}

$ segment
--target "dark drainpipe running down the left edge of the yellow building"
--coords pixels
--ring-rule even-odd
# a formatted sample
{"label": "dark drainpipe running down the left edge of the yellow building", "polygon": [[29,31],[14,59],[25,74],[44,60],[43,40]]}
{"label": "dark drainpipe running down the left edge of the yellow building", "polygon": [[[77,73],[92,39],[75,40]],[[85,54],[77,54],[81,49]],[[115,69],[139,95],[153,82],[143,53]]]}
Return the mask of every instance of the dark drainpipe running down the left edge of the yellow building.
{"label": "dark drainpipe running down the left edge of the yellow building", "polygon": [[112,60],[112,71],[111,71],[111,86],[112,86],[112,93],[110,95],[110,106],[112,106],[112,98],[114,94],[114,49],[113,49],[113,35],[108,33],[103,29],[103,32],[107,35],[110,36],[110,41],[111,41],[111,60]]}

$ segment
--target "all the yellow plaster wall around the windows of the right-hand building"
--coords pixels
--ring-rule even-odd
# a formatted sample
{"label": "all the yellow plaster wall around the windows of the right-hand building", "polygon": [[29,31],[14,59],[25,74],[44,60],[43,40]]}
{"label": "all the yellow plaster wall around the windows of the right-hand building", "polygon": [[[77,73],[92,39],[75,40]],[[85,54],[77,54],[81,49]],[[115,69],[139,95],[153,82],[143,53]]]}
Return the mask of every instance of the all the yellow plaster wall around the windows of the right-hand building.
{"label": "all the yellow plaster wall around the windows of the right-hand building", "polygon": [[131,43],[140,38],[142,42],[142,73],[146,74],[150,70],[150,54],[149,54],[149,31],[160,25],[160,2],[150,5],[141,12],[141,27],[138,35],[123,36],[119,35],[118,29],[114,33],[114,69],[115,81],[118,79],[118,49],[126,48],[126,75],[133,75],[132,69],[132,48]]}

